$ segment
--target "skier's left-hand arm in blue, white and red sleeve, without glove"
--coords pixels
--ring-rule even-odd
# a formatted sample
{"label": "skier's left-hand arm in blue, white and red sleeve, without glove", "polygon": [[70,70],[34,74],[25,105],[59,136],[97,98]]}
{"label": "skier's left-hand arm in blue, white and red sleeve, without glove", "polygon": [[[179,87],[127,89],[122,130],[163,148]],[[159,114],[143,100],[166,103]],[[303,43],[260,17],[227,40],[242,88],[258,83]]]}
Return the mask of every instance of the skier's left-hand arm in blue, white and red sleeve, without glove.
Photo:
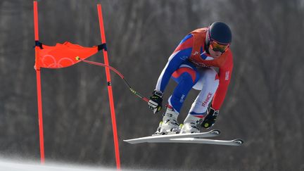
{"label": "skier's left-hand arm in blue, white and red sleeve, without glove", "polygon": [[163,71],[158,77],[156,90],[162,92],[165,91],[165,87],[167,87],[172,73],[175,72],[175,70],[177,70],[179,66],[189,58],[189,56],[191,56],[192,44],[193,37],[191,34],[188,34],[186,37],[184,37],[182,42],[179,43],[179,46],[177,46],[177,49],[175,49],[175,51],[172,53],[167,61],[167,64],[165,65],[165,68],[163,68]]}

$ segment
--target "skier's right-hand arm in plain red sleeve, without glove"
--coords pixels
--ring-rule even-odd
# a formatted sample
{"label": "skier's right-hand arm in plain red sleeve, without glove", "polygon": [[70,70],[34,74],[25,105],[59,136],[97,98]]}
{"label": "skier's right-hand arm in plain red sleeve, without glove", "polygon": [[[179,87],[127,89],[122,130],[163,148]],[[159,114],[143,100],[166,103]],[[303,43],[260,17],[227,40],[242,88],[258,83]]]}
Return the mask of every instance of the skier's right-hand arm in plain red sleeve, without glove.
{"label": "skier's right-hand arm in plain red sleeve, without glove", "polygon": [[222,103],[224,102],[224,98],[227,94],[227,89],[229,87],[229,83],[232,75],[233,68],[233,59],[231,51],[227,51],[229,55],[227,56],[227,61],[219,70],[219,80],[220,84],[215,92],[215,96],[213,97],[212,107],[215,110],[220,110]]}

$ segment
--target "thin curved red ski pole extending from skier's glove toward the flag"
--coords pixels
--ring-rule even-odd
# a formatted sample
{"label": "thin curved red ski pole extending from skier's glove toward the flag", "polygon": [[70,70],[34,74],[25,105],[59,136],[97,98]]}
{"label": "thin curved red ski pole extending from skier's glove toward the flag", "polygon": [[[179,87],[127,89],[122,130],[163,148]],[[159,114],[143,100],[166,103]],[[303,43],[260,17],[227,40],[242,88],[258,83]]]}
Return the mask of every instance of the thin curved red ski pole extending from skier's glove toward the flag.
{"label": "thin curved red ski pole extending from skier's glove toward the flag", "polygon": [[110,70],[113,70],[113,72],[115,72],[117,75],[120,76],[120,78],[122,80],[124,80],[125,84],[127,85],[127,87],[129,87],[129,90],[135,94],[136,96],[138,96],[141,100],[143,101],[146,101],[148,102],[148,99],[144,96],[142,96],[141,94],[139,94],[139,92],[135,91],[131,85],[129,84],[129,82],[127,82],[127,80],[125,80],[125,77],[122,75],[122,73],[120,73],[118,70],[116,70],[115,68],[111,67],[110,65],[106,65],[104,63],[97,63],[97,62],[94,62],[94,61],[87,61],[87,60],[84,60],[84,59],[81,59],[79,56],[76,57],[76,60],[77,61],[82,61],[84,63],[89,63],[91,65],[99,65],[99,66],[103,66],[103,67],[106,67],[106,68],[109,68]]}

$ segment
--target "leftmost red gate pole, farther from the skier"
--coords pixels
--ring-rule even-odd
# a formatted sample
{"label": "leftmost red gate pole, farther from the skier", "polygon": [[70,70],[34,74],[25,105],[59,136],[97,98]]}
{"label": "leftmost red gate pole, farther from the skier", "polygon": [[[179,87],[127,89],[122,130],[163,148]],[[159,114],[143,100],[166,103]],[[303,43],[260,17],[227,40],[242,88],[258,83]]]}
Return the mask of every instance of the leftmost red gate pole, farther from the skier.
{"label": "leftmost red gate pole, farther from the skier", "polygon": [[[39,41],[38,32],[38,4],[34,1],[34,39]],[[35,46],[35,60],[37,61],[38,46]],[[37,101],[38,101],[38,122],[39,122],[39,143],[40,143],[40,158],[41,163],[44,164],[44,133],[43,133],[43,120],[42,120],[42,91],[40,80],[40,68],[35,65],[37,77]]]}

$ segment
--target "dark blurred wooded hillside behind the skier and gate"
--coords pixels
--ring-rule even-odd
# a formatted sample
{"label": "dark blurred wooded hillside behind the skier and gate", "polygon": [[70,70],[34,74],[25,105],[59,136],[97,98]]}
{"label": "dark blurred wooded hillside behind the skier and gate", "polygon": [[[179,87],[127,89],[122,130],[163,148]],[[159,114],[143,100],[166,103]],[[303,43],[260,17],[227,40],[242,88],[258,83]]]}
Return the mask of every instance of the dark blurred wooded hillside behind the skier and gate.
{"label": "dark blurred wooded hillside behind the skier and gate", "polygon": [[[111,74],[122,168],[304,170],[304,1],[41,0],[39,38],[47,45],[100,44],[103,6],[110,65],[134,89],[153,91],[167,58],[191,30],[216,20],[233,32],[234,71],[215,129],[239,147],[139,144],[161,119]],[[32,1],[0,1],[0,154],[39,160]],[[90,58],[103,62],[102,53]],[[115,167],[104,68],[79,63],[42,69],[46,162]],[[172,93],[170,82],[165,99]],[[179,122],[198,91],[191,91]]]}

